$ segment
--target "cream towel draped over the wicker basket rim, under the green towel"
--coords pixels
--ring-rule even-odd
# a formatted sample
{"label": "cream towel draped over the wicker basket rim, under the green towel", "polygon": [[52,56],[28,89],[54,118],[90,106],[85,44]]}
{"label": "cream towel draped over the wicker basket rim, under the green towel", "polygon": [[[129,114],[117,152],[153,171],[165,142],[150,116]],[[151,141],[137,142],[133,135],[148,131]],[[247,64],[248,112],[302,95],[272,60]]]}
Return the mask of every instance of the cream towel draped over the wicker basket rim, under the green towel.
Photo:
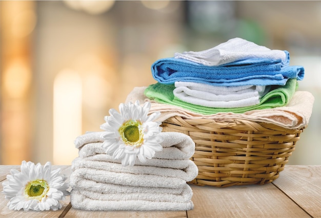
{"label": "cream towel draped over the wicker basket rim, under the green towel", "polygon": [[[127,96],[127,101],[140,100],[151,101],[144,95],[146,87],[135,87]],[[254,122],[272,123],[284,128],[296,129],[308,125],[309,119],[312,114],[314,97],[307,91],[296,91],[287,106],[276,107],[265,110],[253,110],[243,114],[234,113],[217,113],[213,115],[202,115],[193,113],[182,107],[161,104],[151,101],[151,109],[149,113],[159,111],[160,117],[157,119],[159,122],[173,117],[180,116],[186,119],[213,119],[214,121],[228,121],[235,119],[244,119]]]}

